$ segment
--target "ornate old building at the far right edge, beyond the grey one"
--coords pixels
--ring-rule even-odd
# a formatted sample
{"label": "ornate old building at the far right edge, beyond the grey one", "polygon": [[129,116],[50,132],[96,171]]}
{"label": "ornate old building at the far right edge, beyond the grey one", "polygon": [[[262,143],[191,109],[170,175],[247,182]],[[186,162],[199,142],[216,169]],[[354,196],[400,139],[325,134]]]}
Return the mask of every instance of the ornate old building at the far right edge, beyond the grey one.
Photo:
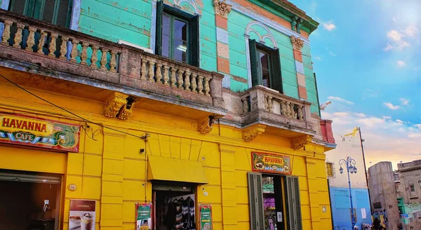
{"label": "ornate old building at the far right edge, beyond the grey one", "polygon": [[421,160],[399,163],[398,200],[405,229],[421,229]]}

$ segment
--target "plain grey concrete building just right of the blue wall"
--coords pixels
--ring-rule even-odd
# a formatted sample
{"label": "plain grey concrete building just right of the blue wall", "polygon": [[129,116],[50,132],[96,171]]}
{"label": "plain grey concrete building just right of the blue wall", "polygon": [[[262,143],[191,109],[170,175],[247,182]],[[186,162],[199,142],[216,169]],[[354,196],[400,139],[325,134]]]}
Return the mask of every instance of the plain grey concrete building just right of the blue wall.
{"label": "plain grey concrete building just right of the blue wall", "polygon": [[368,168],[373,224],[377,222],[388,230],[398,230],[401,226],[395,179],[392,163],[389,161],[382,161]]}

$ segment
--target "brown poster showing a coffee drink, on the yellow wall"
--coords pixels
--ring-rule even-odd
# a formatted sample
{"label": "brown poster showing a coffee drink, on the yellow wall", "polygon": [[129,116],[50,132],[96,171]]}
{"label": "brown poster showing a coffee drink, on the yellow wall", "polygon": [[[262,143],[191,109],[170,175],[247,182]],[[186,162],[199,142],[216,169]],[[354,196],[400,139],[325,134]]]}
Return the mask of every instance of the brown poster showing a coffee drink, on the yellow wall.
{"label": "brown poster showing a coffee drink, on the yellow wall", "polygon": [[95,201],[70,201],[69,230],[95,230]]}

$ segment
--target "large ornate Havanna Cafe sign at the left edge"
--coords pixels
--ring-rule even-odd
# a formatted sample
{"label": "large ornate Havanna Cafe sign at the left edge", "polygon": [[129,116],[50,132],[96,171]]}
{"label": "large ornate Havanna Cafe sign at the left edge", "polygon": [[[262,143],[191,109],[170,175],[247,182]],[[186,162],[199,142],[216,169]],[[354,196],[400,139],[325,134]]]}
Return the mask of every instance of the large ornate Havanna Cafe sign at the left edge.
{"label": "large ornate Havanna Cafe sign at the left edge", "polygon": [[77,152],[80,128],[76,124],[0,112],[0,143]]}

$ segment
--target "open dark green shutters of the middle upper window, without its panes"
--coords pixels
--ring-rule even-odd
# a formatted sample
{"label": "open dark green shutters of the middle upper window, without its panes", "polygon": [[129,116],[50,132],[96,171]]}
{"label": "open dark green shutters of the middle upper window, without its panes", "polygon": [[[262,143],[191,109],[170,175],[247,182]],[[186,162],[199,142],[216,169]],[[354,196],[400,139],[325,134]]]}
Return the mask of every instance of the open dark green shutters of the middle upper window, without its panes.
{"label": "open dark green shutters of the middle upper window, without its panes", "polygon": [[188,41],[187,44],[187,58],[188,64],[195,67],[200,67],[199,63],[199,53],[200,53],[200,34],[199,34],[199,24],[200,24],[200,15],[190,15],[184,11],[181,11],[177,8],[163,4],[163,1],[156,2],[156,29],[155,29],[155,54],[162,55],[162,33],[163,33],[163,14],[164,12],[169,15],[174,15],[182,20],[188,22]]}

